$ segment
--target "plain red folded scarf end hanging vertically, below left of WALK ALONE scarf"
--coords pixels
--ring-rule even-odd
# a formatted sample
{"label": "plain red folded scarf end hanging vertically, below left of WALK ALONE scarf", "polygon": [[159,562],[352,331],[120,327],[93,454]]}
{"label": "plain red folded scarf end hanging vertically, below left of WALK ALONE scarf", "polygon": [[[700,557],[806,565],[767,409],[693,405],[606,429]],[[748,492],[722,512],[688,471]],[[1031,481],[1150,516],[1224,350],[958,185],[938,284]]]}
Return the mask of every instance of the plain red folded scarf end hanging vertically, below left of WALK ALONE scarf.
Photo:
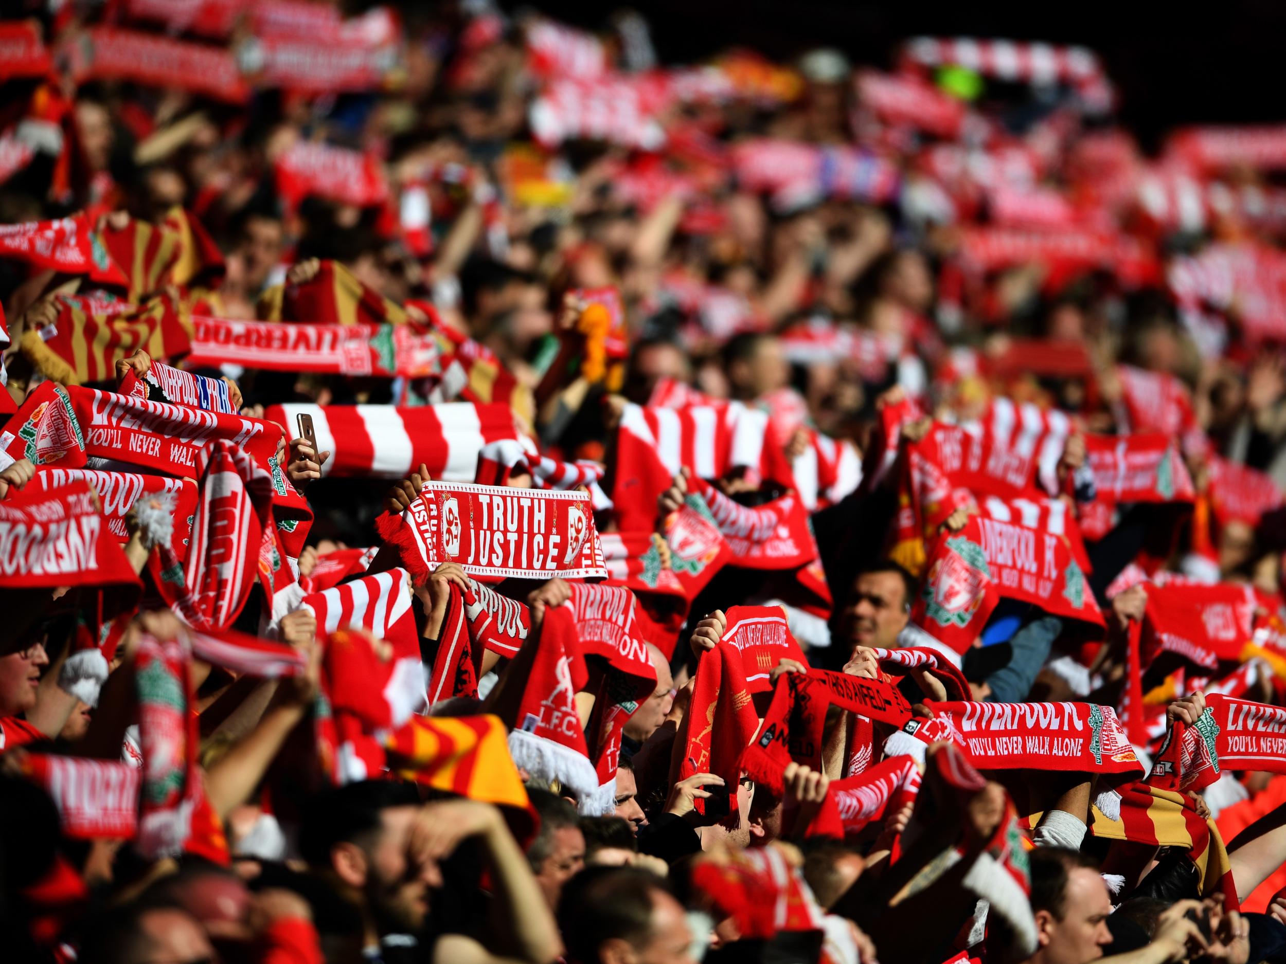
{"label": "plain red folded scarf end hanging vertically, below left of WALK ALONE scarf", "polygon": [[678,779],[714,774],[724,780],[721,790],[712,788],[709,799],[696,801],[697,812],[718,817],[736,812],[741,754],[755,736],[759,716],[734,645],[720,641],[702,653],[684,726],[687,742]]}

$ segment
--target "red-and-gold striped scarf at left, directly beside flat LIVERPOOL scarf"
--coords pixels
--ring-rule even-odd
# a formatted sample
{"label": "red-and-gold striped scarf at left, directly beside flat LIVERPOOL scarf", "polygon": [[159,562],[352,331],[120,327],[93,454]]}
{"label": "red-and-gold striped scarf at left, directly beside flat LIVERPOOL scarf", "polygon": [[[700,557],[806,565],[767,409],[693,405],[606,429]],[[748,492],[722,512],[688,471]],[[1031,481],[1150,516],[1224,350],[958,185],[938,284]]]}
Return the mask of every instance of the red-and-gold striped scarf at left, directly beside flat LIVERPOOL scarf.
{"label": "red-and-gold striped scarf at left, directly beside flat LIVERPOOL scarf", "polygon": [[[192,319],[168,297],[138,307],[59,298],[51,333],[28,330],[22,351],[36,369],[62,384],[116,379],[116,362],[143,348],[153,359],[192,347]],[[96,311],[96,308],[103,308]]]}

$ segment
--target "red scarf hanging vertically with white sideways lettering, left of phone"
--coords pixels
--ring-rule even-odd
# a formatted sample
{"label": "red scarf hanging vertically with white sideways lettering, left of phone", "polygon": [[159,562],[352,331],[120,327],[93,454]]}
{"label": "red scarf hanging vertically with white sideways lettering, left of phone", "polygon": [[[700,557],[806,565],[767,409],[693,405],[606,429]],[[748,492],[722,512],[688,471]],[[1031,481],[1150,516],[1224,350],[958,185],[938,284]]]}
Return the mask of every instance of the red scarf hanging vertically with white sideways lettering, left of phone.
{"label": "red scarf hanging vertically with white sideways lettering, left of phone", "polygon": [[194,472],[199,497],[188,557],[180,562],[158,545],[148,569],[189,626],[219,631],[233,623],[255,585],[258,549],[273,524],[273,479],[226,441],[198,449]]}

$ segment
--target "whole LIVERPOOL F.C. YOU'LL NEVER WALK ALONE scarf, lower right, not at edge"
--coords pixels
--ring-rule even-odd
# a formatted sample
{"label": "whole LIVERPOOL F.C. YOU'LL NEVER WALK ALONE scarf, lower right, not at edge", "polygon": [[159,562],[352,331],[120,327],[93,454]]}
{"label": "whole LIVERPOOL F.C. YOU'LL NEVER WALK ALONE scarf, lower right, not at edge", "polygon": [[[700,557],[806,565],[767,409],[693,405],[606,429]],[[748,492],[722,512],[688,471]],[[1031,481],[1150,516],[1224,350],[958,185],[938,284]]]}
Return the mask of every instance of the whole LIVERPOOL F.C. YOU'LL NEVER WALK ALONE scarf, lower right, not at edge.
{"label": "whole LIVERPOOL F.C. YOU'LL NEVER WALK ALONE scarf, lower right, not at edge", "polygon": [[1116,711],[1093,703],[928,703],[980,770],[1137,774]]}

